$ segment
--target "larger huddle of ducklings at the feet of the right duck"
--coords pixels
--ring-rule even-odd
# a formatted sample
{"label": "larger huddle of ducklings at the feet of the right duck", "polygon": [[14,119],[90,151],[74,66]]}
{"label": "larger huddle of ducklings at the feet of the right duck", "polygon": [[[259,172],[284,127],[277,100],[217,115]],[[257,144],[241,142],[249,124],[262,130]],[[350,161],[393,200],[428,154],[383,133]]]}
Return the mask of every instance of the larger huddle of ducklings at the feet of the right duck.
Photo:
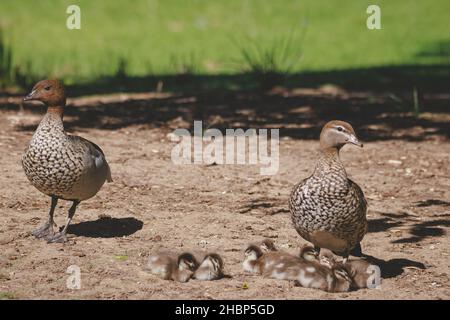
{"label": "larger huddle of ducklings at the feet of the right duck", "polygon": [[327,292],[347,292],[368,287],[371,264],[363,258],[338,262],[327,249],[318,253],[304,245],[298,256],[278,250],[270,239],[251,244],[245,250],[245,272],[294,281],[297,286]]}

